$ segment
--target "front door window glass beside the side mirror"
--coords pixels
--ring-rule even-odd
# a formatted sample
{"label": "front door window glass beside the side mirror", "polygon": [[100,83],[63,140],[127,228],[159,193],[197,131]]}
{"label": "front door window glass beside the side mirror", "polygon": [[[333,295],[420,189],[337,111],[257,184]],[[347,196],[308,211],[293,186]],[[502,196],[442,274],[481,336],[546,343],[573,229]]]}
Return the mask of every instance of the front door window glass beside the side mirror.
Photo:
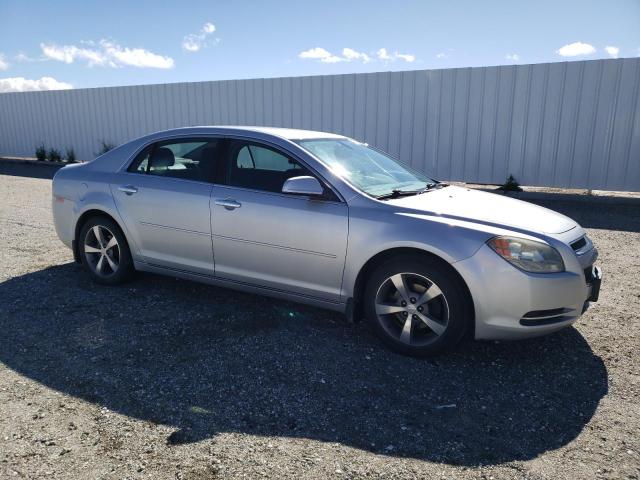
{"label": "front door window glass beside the side mirror", "polygon": [[287,179],[310,175],[292,158],[266,146],[236,141],[229,153],[229,185],[235,187],[279,193]]}

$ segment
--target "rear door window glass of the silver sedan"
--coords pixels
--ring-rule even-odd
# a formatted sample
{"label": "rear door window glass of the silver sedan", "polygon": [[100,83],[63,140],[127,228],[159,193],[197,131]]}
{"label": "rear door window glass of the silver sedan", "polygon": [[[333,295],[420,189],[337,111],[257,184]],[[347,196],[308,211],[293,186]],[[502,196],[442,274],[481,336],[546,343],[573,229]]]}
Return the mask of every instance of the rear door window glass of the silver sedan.
{"label": "rear door window glass of the silver sedan", "polygon": [[182,180],[212,181],[219,144],[219,139],[160,142],[143,151],[129,171]]}

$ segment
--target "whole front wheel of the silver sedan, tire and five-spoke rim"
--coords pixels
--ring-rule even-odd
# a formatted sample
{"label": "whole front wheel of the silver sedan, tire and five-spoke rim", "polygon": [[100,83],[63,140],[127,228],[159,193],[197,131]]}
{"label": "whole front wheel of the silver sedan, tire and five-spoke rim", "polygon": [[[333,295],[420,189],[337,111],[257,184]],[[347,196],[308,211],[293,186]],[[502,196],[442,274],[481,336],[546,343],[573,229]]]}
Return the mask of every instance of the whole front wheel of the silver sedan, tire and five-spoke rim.
{"label": "whole front wheel of the silver sedan, tire and five-spoke rim", "polygon": [[419,255],[375,268],[365,287],[364,311],[386,346],[414,357],[452,349],[473,320],[471,298],[451,267]]}

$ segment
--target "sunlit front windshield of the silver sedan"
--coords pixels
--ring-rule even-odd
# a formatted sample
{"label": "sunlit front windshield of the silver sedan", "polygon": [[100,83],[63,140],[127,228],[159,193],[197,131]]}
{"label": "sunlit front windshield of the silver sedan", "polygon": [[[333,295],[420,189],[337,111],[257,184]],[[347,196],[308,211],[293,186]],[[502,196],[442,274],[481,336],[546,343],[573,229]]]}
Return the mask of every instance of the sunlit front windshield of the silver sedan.
{"label": "sunlit front windshield of the silver sedan", "polygon": [[373,197],[424,190],[434,180],[351,139],[299,140],[333,173]]}

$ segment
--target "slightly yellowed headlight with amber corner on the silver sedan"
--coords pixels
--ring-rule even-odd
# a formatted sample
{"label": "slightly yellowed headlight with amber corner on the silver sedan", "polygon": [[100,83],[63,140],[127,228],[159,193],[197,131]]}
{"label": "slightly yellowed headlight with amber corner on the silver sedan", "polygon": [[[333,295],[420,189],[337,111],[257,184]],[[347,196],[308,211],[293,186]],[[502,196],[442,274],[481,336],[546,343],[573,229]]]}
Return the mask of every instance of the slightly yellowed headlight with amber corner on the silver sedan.
{"label": "slightly yellowed headlight with amber corner on the silver sedan", "polygon": [[518,237],[494,237],[487,245],[511,265],[525,272],[564,272],[562,257],[546,243]]}

